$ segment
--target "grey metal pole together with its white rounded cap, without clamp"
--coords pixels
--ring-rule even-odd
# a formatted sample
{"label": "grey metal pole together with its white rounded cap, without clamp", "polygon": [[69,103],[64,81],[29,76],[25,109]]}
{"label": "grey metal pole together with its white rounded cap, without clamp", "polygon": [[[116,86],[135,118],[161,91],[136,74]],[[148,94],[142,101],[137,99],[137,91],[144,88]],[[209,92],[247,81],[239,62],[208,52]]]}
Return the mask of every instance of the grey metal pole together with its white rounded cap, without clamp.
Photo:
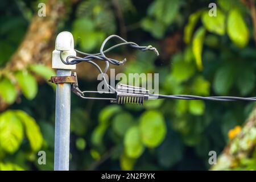
{"label": "grey metal pole together with its white rounded cap, without clamp", "polygon": [[[63,57],[76,56],[74,40],[70,32],[61,32],[52,52],[52,68],[57,69],[57,76],[71,76],[71,69],[76,65],[66,65],[60,60],[60,52]],[[69,135],[71,115],[71,84],[60,83],[56,88],[55,106],[55,148],[54,148],[54,170],[69,170]]]}

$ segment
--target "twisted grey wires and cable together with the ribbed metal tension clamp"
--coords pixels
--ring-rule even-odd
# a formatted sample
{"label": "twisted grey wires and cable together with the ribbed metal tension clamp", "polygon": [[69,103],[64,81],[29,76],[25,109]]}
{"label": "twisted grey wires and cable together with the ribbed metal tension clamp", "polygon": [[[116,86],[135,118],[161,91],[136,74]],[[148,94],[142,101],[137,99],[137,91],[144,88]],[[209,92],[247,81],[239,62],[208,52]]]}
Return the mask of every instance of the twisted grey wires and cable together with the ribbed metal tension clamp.
{"label": "twisted grey wires and cable together with the ribbed metal tension clamp", "polygon": [[[118,39],[121,40],[122,43],[116,44],[108,49],[105,49],[106,43],[110,39]],[[75,49],[77,53],[83,55],[84,57],[78,56],[67,56],[64,60],[63,58],[63,51],[60,52],[60,60],[63,64],[79,64],[81,62],[87,62],[92,64],[94,67],[98,69],[101,74],[105,74],[109,69],[109,64],[113,65],[123,65],[126,63],[126,58],[122,61],[118,61],[116,59],[112,59],[106,57],[105,53],[112,51],[113,49],[120,47],[120,46],[129,46],[135,49],[139,49],[140,51],[153,51],[157,56],[159,56],[159,52],[155,47],[150,46],[139,46],[134,42],[127,42],[125,39],[119,37],[118,35],[110,35],[108,38],[104,40],[101,45],[99,53],[85,53],[78,51]],[[101,60],[105,61],[105,68],[104,71],[100,68],[98,64],[96,64],[93,60]],[[211,97],[202,97],[202,96],[191,96],[191,95],[162,95],[162,94],[151,94],[149,90],[145,88],[137,87],[137,86],[130,86],[120,84],[117,86],[117,89],[113,88],[108,84],[106,81],[105,76],[102,77],[102,81],[105,82],[106,86],[110,92],[98,92],[98,91],[81,91],[78,86],[77,82],[77,75],[76,73],[72,73],[73,76],[76,77],[76,82],[72,84],[72,91],[79,97],[84,99],[92,99],[92,100],[110,100],[111,103],[115,104],[139,104],[143,105],[145,100],[152,100],[152,99],[161,99],[161,98],[171,98],[175,100],[208,100],[208,101],[256,101],[256,97],[230,97],[230,96],[211,96]],[[85,94],[115,94],[115,97],[112,98],[105,98],[105,97],[86,97]]]}

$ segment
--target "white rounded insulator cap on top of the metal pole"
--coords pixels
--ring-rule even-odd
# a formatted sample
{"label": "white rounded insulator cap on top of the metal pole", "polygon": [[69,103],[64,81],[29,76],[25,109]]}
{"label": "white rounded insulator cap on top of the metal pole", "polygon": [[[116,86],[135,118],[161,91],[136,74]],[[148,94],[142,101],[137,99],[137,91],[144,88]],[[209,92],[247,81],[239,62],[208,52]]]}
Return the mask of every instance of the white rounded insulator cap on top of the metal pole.
{"label": "white rounded insulator cap on top of the metal pole", "polygon": [[76,69],[76,65],[67,65],[62,63],[60,52],[62,51],[63,60],[68,56],[76,56],[74,49],[74,39],[71,32],[64,31],[57,35],[55,50],[52,52],[52,68],[55,69]]}

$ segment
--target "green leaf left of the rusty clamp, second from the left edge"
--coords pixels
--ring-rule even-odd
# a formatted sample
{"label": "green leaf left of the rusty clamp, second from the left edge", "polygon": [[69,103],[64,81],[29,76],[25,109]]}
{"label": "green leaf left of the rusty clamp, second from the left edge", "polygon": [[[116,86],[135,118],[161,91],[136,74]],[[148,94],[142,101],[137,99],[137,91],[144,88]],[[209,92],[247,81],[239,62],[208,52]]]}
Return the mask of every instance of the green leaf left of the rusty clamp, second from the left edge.
{"label": "green leaf left of the rusty clamp, second from the left edge", "polygon": [[36,93],[38,93],[38,83],[34,76],[32,76],[27,71],[18,71],[15,73],[16,80],[28,100],[35,98]]}

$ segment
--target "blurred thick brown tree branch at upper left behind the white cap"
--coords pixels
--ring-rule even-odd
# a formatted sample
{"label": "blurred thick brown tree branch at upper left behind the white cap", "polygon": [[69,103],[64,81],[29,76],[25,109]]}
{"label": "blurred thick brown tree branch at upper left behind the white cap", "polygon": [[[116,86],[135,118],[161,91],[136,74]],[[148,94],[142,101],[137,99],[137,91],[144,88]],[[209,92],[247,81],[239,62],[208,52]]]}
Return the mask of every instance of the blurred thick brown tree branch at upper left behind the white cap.
{"label": "blurred thick brown tree branch at upper left behind the white cap", "polygon": [[[36,13],[32,18],[26,35],[19,48],[11,57],[6,67],[8,72],[14,72],[27,67],[29,64],[51,64],[51,52],[54,49],[54,39],[59,20],[65,15],[65,5],[61,1],[46,2],[46,16],[39,17]],[[8,104],[0,98],[0,111]]]}

